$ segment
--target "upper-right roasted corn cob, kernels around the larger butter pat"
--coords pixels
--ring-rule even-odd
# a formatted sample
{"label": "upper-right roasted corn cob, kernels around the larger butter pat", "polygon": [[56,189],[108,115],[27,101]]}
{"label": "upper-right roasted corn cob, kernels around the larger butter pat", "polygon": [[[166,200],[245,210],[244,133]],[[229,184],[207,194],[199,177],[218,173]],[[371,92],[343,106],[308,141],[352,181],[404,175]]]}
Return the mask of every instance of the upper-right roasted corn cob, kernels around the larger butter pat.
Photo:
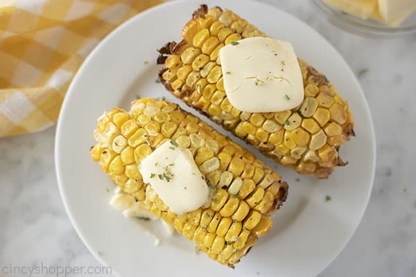
{"label": "upper-right roasted corn cob, kernels around the larger butter pat", "polygon": [[249,113],[227,99],[218,52],[225,44],[266,36],[231,10],[202,5],[182,29],[182,41],[162,47],[160,80],[174,96],[222,124],[278,163],[304,175],[327,178],[344,166],[338,149],[354,135],[347,102],[322,73],[299,60],[304,101],[276,113]]}

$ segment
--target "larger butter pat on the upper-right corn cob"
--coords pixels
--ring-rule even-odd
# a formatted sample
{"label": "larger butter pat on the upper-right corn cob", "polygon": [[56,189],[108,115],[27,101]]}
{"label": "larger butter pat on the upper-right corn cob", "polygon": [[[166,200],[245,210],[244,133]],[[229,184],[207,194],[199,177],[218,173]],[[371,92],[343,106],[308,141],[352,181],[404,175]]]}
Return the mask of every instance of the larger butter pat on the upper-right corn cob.
{"label": "larger butter pat on the upper-right corn cob", "polygon": [[302,73],[293,46],[250,37],[220,49],[225,93],[240,111],[286,111],[304,99]]}

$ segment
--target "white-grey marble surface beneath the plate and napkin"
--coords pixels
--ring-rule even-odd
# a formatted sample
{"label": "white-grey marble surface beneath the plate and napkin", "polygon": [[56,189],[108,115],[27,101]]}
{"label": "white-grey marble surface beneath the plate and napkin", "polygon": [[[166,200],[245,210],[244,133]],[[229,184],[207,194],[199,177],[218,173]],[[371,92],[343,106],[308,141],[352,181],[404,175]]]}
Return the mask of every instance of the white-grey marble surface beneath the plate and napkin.
{"label": "white-grey marble surface beneath the plate and napkin", "polygon": [[[352,240],[320,276],[415,277],[416,35],[367,39],[331,26],[306,0],[268,2],[322,33],[354,72],[367,70],[360,82],[376,130],[374,189]],[[99,266],[64,211],[54,134],[0,139],[0,266]]]}

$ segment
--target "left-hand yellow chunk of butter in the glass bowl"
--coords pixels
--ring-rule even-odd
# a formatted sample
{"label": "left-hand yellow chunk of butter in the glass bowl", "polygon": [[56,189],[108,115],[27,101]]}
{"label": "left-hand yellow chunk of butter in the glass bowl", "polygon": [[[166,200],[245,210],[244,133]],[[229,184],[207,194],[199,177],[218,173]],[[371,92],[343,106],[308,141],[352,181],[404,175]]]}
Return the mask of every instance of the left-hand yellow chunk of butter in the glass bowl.
{"label": "left-hand yellow chunk of butter in the glass bowl", "polygon": [[370,17],[377,6],[377,0],[324,0],[324,2],[362,19]]}

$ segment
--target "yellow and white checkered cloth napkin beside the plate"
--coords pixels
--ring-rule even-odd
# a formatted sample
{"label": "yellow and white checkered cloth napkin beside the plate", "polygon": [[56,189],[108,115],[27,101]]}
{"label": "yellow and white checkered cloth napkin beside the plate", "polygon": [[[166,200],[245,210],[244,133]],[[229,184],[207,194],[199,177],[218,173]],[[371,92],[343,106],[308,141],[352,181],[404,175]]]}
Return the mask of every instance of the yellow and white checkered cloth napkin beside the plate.
{"label": "yellow and white checkered cloth napkin beside the plate", "polygon": [[161,0],[0,0],[0,137],[53,125],[105,35]]}

